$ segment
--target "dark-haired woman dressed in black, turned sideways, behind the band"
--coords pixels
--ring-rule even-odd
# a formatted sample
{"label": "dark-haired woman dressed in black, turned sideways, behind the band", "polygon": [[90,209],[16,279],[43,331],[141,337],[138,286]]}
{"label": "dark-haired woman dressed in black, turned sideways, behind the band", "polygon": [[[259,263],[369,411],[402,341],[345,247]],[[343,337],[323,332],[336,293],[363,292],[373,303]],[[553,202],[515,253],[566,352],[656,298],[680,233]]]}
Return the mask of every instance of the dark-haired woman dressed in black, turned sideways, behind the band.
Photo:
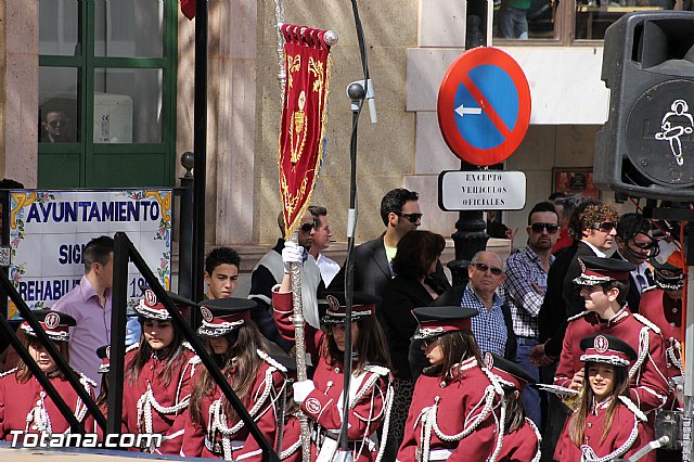
{"label": "dark-haired woman dressed in black, turned sideways, behind the band", "polygon": [[[388,333],[388,351],[395,375],[394,415],[386,454],[391,458],[398,451],[404,432],[404,419],[412,399],[414,380],[410,371],[408,352],[410,338],[416,331],[416,320],[411,311],[432,304],[450,284],[436,273],[436,266],[446,248],[446,240],[429,231],[410,231],[400,242],[391,261],[396,277],[389,282],[381,304],[378,319]],[[414,351],[424,367],[427,361],[420,350]]]}

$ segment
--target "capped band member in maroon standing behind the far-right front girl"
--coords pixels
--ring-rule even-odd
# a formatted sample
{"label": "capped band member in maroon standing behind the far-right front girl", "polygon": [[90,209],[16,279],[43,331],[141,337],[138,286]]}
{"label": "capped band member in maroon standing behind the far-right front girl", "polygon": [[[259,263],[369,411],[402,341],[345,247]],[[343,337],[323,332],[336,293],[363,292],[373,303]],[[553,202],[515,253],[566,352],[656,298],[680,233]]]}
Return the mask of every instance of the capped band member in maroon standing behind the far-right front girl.
{"label": "capped band member in maroon standing behind the far-right front girl", "polygon": [[568,319],[566,336],[554,385],[582,389],[583,368],[580,361],[581,339],[594,334],[609,334],[634,347],[638,355],[629,368],[631,399],[650,416],[647,439],[655,436],[653,410],[660,408],[668,395],[665,344],[660,330],[626,306],[629,271],[634,267],[614,258],[581,257],[582,273],[574,280],[581,285],[586,309]]}

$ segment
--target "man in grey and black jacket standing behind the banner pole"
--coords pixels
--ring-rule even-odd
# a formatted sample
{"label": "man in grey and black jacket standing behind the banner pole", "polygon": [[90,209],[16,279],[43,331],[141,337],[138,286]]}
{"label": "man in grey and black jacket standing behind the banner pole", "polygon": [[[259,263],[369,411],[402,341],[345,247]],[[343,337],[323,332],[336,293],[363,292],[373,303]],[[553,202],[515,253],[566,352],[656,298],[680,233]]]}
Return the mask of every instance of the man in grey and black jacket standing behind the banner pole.
{"label": "man in grey and black jacket standing behind the banner pole", "polygon": [[[280,235],[283,236],[284,217],[282,213],[278,216],[278,227],[280,228]],[[272,318],[272,287],[281,283],[284,273],[288,272],[288,262],[284,258],[286,252],[298,254],[303,260],[301,305],[304,307],[304,316],[309,324],[320,329],[317,297],[320,292],[325,290],[325,285],[316,260],[306,258],[308,249],[313,242],[314,227],[313,216],[306,211],[301,217],[301,224],[298,229],[298,246],[290,241],[285,242],[283,238],[278,239],[275,246],[258,260],[250,274],[248,298],[257,304],[257,307],[250,311],[250,319],[258,324],[262,335],[270,342],[281,346],[285,351],[292,348],[293,343],[282,338],[274,324],[274,319]]]}

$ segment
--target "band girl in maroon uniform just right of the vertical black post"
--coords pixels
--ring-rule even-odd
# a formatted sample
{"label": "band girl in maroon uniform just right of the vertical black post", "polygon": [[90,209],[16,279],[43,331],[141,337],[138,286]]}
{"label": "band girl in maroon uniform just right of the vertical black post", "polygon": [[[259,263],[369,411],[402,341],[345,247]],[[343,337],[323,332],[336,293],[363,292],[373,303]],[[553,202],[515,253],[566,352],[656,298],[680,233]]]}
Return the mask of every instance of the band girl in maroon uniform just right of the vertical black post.
{"label": "band girl in maroon uniform just right of the vertical black post", "polygon": [[[194,305],[176,294],[178,306]],[[160,434],[162,446],[140,448],[163,454],[179,454],[183,440],[184,409],[191,394],[191,377],[200,362],[183,335],[171,322],[166,307],[151,288],[133,308],[142,336],[128,347],[124,363],[123,433]]]}

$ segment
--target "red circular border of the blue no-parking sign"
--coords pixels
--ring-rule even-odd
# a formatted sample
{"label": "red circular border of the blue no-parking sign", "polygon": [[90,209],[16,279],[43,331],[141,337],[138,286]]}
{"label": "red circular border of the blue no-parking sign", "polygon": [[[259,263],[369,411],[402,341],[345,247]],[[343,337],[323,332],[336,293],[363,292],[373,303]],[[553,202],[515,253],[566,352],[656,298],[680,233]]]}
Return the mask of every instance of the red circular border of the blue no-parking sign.
{"label": "red circular border of the blue no-parking sign", "polygon": [[[511,134],[504,142],[496,147],[481,150],[470,144],[458,130],[455,125],[455,108],[453,103],[455,92],[461,82],[461,76],[480,65],[496,65],[505,70],[516,86],[518,91],[518,118]],[[491,47],[479,47],[465,51],[461,54],[446,72],[441,86],[438,90],[438,101],[436,104],[438,125],[444,136],[446,144],[461,159],[476,166],[489,166],[499,164],[520,145],[530,126],[530,87],[525,73],[507,53]],[[481,105],[481,104],[480,104]],[[483,111],[485,108],[483,107]]]}

